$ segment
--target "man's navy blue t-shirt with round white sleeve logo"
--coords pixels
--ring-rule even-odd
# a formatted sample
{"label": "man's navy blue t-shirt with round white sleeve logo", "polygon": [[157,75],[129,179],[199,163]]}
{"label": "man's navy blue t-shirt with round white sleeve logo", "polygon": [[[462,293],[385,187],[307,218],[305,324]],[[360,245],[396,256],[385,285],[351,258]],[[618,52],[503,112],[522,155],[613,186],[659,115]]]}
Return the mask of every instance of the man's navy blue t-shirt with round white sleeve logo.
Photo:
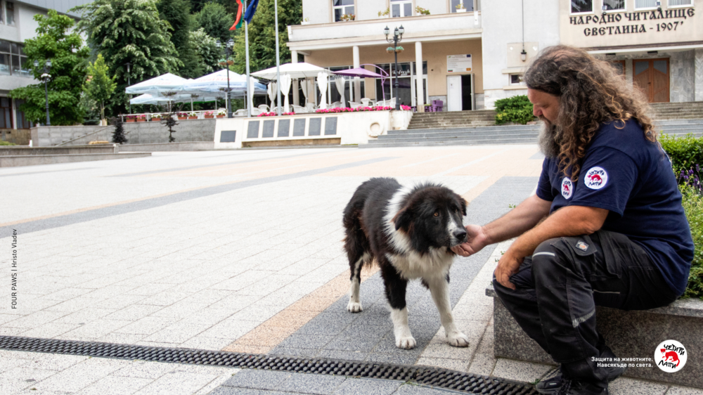
{"label": "man's navy blue t-shirt with round white sleeve logo", "polygon": [[671,289],[683,294],[693,240],[671,162],[636,121],[616,125],[622,127],[610,122],[595,134],[576,182],[558,171],[557,159],[546,158],[537,196],[552,202],[550,212],[570,205],[609,210],[602,229],[641,245]]}

